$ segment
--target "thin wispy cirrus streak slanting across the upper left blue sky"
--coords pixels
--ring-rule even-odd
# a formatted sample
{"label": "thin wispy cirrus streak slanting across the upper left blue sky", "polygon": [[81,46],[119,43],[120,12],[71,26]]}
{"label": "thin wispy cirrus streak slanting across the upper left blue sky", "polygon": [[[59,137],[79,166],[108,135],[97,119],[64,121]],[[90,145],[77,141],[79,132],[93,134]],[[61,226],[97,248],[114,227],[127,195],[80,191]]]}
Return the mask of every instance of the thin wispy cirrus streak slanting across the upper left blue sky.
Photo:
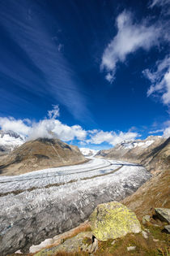
{"label": "thin wispy cirrus streak slanting across the upper left blue sky", "polygon": [[58,28],[57,21],[42,6],[35,1],[1,2],[0,22],[11,56],[2,56],[0,72],[36,97],[60,102],[76,119],[91,119],[86,97],[79,90],[79,77],[64,58],[62,43],[58,46],[49,32],[50,24]]}

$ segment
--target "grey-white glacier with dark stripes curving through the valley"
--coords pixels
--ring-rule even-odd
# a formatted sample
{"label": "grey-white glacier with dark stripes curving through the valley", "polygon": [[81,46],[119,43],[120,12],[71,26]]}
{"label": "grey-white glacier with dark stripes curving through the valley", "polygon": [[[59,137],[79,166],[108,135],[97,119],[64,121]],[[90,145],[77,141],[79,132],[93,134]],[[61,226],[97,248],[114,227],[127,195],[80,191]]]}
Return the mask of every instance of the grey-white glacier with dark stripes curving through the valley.
{"label": "grey-white glacier with dark stripes curving through the valley", "polygon": [[[97,160],[98,165],[100,160]],[[142,166],[108,161],[107,167],[105,161],[102,163],[103,167],[100,166],[97,170],[93,170],[94,173],[90,167],[93,161],[91,164],[82,165],[85,170],[87,170],[86,167],[89,168],[84,172],[80,172],[82,166],[80,168],[78,166],[65,167],[67,170],[62,170],[64,171],[63,179],[69,172],[74,172],[74,181],[66,180],[66,184],[54,183],[51,186],[53,182],[51,183],[50,177],[46,176],[45,182],[48,183],[49,179],[49,187],[42,185],[40,189],[35,186],[35,183],[33,188],[28,184],[31,184],[38,175],[44,174],[45,176],[47,173],[49,175],[49,171],[34,171],[32,175],[27,174],[20,178],[19,176],[2,177],[0,182],[4,182],[6,188],[13,185],[12,191],[14,189],[19,191],[21,187],[19,181],[15,183],[16,178],[22,180],[23,177],[30,178],[32,176],[32,179],[24,180],[25,184],[32,189],[27,190],[26,186],[25,191],[17,194],[9,192],[6,196],[1,192],[1,254],[14,253],[18,249],[28,252],[31,245],[39,244],[46,238],[78,226],[88,218],[98,204],[113,200],[120,201],[151,177],[151,174]],[[92,167],[94,168],[95,165]],[[52,173],[55,173],[54,169]],[[56,169],[59,171],[58,168]],[[86,179],[84,179],[85,176]],[[15,185],[12,184],[12,179],[14,179]],[[10,191],[10,189],[6,191]]]}

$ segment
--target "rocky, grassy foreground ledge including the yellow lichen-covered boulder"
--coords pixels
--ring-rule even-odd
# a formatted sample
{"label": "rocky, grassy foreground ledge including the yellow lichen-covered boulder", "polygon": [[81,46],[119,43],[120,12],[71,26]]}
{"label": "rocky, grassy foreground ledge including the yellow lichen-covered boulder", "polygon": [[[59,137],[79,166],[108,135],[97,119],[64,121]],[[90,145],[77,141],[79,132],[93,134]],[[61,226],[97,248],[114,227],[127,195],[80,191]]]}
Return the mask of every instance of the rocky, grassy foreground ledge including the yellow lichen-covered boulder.
{"label": "rocky, grassy foreground ledge including the yellow lichen-covered boulder", "polygon": [[32,246],[31,251],[36,252],[35,256],[168,256],[169,223],[170,209],[155,208],[155,215],[145,215],[139,222],[135,213],[120,202],[108,202],[98,205],[89,222],[79,229],[45,241],[49,243],[45,249]]}

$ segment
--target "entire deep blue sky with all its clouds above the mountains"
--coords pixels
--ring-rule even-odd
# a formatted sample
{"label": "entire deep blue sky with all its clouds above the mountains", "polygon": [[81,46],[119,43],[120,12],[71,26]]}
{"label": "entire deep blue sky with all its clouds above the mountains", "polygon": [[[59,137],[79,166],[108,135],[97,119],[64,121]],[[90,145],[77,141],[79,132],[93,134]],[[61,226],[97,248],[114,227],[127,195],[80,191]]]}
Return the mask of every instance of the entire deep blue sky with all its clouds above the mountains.
{"label": "entire deep blue sky with all its clouds above the mountains", "polygon": [[0,5],[2,129],[97,149],[170,135],[168,0]]}

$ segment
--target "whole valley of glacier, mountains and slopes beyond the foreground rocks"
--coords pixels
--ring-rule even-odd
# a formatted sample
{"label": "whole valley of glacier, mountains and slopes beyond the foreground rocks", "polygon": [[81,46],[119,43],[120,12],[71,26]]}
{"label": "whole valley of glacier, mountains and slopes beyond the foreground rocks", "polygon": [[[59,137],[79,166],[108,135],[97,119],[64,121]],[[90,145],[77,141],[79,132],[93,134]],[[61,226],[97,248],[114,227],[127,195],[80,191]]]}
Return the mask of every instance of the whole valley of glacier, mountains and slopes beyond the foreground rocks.
{"label": "whole valley of glacier, mountains and slopes beyond the foreground rocks", "polygon": [[19,135],[6,137],[11,151],[0,160],[1,255],[28,254],[32,245],[78,227],[101,203],[123,202],[139,218],[168,206],[169,139],[123,141],[97,152],[56,138],[18,145]]}

